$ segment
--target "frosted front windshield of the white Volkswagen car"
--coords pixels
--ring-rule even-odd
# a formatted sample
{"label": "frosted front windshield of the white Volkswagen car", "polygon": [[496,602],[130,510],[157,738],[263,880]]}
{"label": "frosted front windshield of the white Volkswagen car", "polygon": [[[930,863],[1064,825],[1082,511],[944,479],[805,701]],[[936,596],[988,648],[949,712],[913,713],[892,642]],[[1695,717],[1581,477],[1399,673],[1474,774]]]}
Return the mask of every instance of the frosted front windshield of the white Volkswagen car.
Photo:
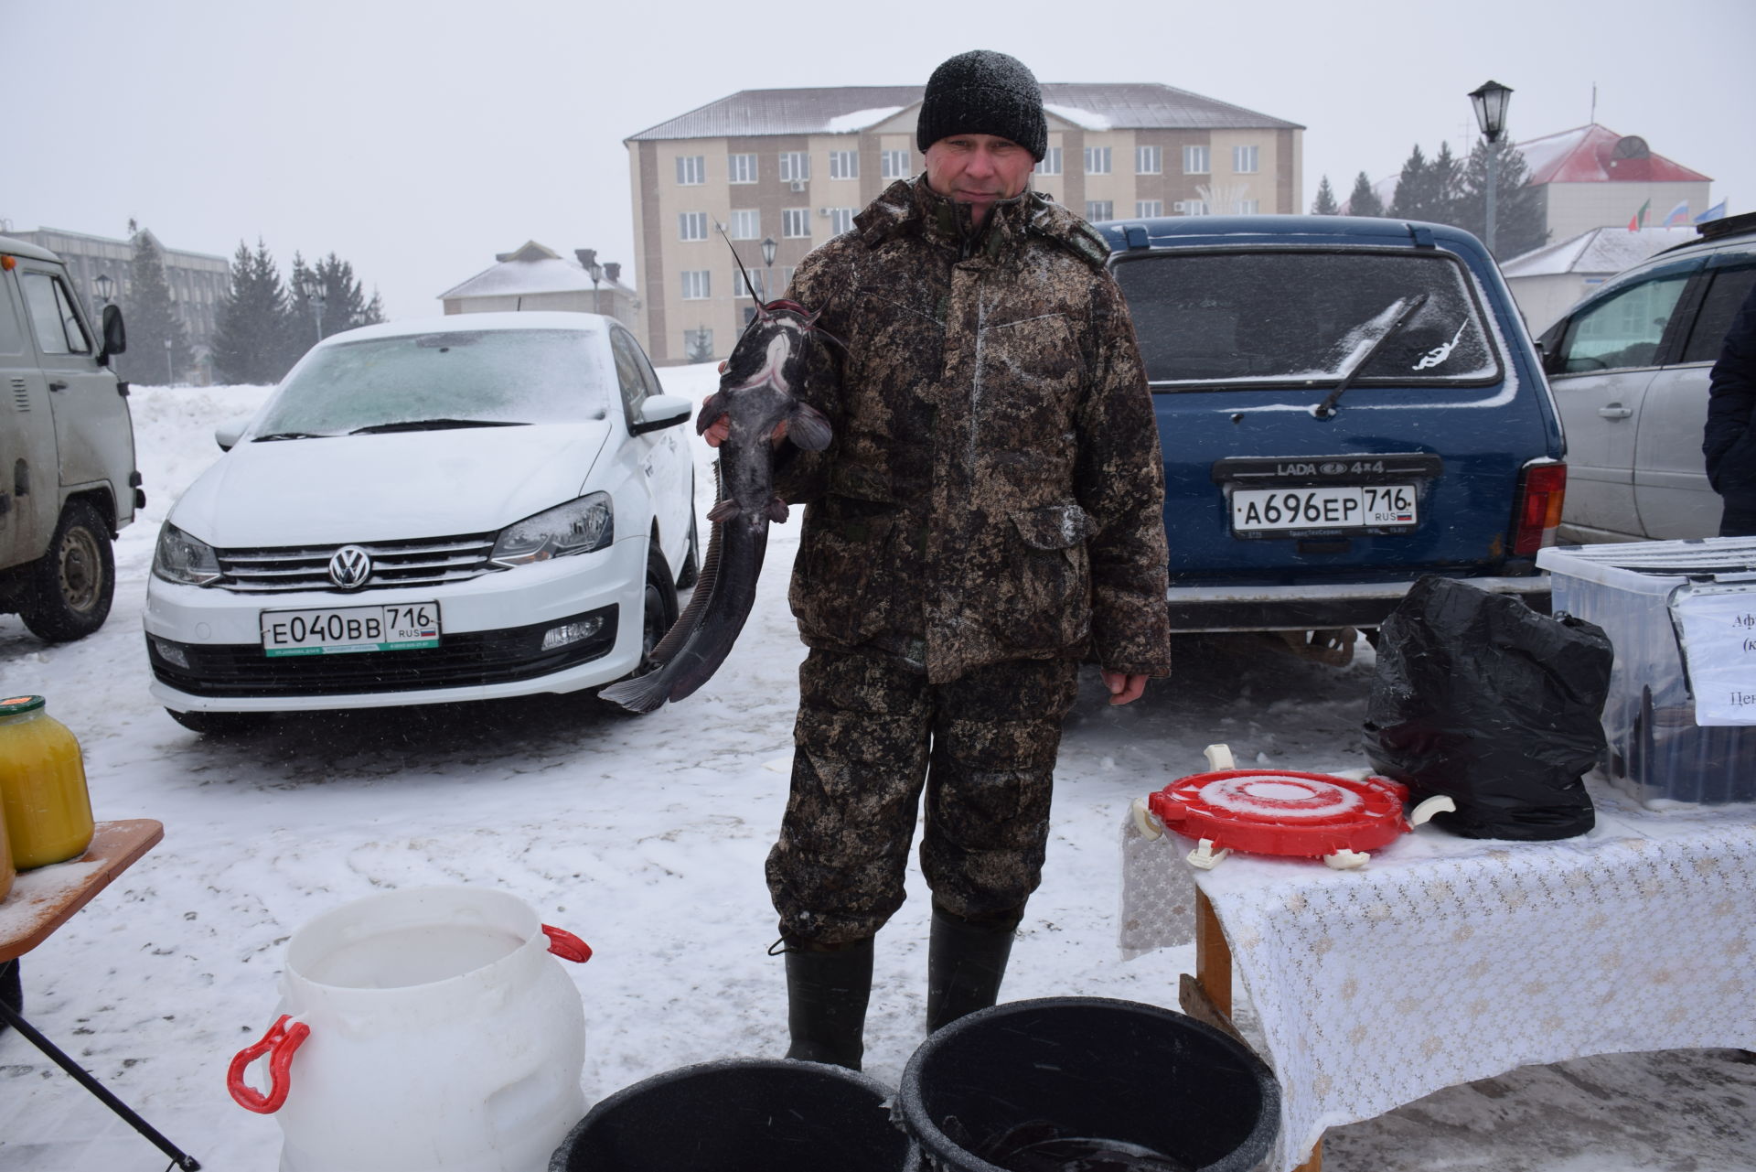
{"label": "frosted front windshield of the white Volkswagen car", "polygon": [[579,330],[443,330],[313,353],[256,439],[601,420],[608,378]]}

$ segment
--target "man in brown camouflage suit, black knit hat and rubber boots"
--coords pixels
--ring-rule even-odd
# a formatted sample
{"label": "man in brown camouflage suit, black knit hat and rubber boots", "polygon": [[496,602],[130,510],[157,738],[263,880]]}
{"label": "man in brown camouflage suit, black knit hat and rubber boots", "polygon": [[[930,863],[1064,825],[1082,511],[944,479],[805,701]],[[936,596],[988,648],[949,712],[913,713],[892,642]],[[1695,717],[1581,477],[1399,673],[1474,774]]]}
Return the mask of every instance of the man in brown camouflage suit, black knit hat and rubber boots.
{"label": "man in brown camouflage suit, black knit hat and rubber boots", "polygon": [[1047,137],[1022,63],[945,61],[920,109],[925,174],[788,292],[845,341],[802,392],[834,441],[776,478],[808,504],[792,608],[811,648],[767,859],[788,1058],[859,1068],[873,937],[903,903],[924,789],[929,1031],[994,1003],[1078,662],[1098,661],[1110,703],[1169,673],[1152,402],[1108,248],[1027,190]]}

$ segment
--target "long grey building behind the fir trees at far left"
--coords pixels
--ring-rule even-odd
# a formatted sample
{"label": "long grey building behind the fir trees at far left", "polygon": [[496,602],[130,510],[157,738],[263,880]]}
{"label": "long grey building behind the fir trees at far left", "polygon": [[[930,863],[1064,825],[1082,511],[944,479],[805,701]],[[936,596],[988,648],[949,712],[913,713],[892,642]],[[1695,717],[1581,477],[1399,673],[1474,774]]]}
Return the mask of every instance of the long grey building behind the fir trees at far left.
{"label": "long grey building behind the fir trees at far left", "polygon": [[[142,232],[151,230],[142,228]],[[133,239],[118,241],[109,235],[88,235],[63,228],[7,232],[7,235],[47,248],[65,260],[67,272],[74,278],[79,295],[93,315],[100,313],[104,304],[97,286],[100,274],[116,283],[111,300],[123,307],[128,306],[128,299],[133,295]],[[190,339],[193,369],[181,371],[177,376],[195,383],[209,383],[212,381],[214,315],[232,288],[232,262],[225,257],[165,248],[165,242],[156,235],[153,235],[153,242],[158,244],[158,253],[165,262],[170,302]]]}

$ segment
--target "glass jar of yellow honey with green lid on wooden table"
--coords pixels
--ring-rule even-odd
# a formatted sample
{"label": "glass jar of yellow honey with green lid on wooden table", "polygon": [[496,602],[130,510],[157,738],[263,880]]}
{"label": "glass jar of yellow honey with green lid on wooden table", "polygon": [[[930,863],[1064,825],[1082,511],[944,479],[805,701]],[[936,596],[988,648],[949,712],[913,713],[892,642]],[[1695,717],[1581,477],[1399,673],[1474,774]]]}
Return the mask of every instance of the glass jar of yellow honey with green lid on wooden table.
{"label": "glass jar of yellow honey with green lid on wooden table", "polygon": [[79,857],[91,845],[79,742],[42,696],[0,699],[0,819],[21,872]]}

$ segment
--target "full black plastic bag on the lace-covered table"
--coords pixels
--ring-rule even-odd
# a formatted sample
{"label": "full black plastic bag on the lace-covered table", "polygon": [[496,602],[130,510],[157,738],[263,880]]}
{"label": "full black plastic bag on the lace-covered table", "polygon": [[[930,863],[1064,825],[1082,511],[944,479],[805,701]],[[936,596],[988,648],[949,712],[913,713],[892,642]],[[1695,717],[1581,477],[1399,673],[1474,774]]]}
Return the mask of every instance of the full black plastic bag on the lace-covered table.
{"label": "full black plastic bag on the lace-covered table", "polygon": [[1603,629],[1429,575],[1378,631],[1366,756],[1466,838],[1572,838],[1594,822],[1580,780],[1603,754],[1614,654]]}

